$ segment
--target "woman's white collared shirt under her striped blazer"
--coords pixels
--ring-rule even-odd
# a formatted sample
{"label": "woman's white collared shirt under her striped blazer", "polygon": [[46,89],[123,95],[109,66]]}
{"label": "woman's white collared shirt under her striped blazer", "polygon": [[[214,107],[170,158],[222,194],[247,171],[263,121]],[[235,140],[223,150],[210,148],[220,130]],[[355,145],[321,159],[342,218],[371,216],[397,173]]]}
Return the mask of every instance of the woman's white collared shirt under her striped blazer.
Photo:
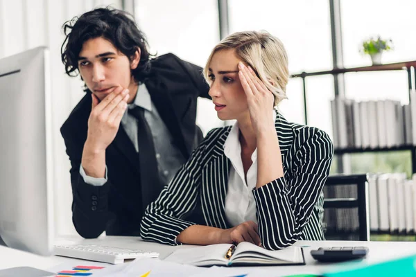
{"label": "woman's white collared shirt under her striped blazer", "polygon": [[[276,111],[273,109],[273,122],[275,120]],[[224,143],[225,156],[232,163],[225,196],[225,216],[232,226],[250,220],[257,223],[256,202],[252,193],[257,184],[257,148],[252,154],[252,165],[248,169],[247,182],[245,182],[239,133],[239,123],[236,122]]]}

